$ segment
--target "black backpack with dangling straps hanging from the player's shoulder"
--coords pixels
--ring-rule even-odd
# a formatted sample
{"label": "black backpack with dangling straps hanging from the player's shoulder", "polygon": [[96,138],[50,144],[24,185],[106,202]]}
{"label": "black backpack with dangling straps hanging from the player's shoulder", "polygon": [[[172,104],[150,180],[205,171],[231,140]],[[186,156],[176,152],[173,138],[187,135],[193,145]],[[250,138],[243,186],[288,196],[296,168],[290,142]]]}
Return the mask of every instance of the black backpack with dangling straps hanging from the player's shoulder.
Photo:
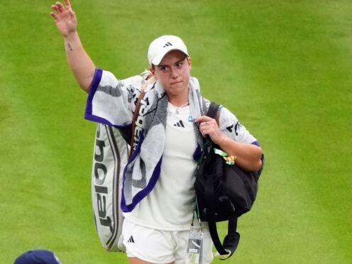
{"label": "black backpack with dangling straps hanging from the player's shoulder", "polygon": [[[219,105],[214,102],[209,106],[207,116],[216,119]],[[221,155],[214,153],[219,148],[207,137],[204,150],[198,161],[194,187],[197,197],[197,211],[202,221],[209,224],[209,232],[216,251],[221,259],[229,258],[238,246],[240,239],[237,219],[251,210],[258,192],[258,179],[263,170],[248,172],[234,165],[226,164]],[[216,222],[229,221],[228,234],[221,244],[216,229]]]}

